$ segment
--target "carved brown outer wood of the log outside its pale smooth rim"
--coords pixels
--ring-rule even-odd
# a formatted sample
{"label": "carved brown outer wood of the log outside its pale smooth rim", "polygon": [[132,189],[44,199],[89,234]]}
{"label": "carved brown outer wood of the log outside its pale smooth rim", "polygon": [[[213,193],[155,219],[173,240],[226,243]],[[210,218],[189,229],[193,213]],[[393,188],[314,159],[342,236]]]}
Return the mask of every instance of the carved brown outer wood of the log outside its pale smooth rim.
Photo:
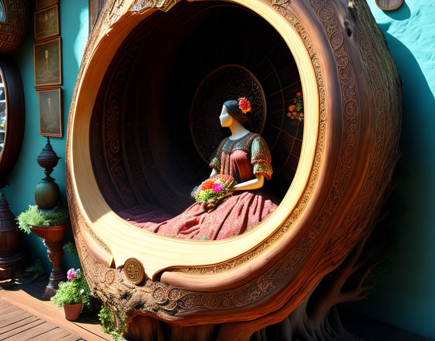
{"label": "carved brown outer wood of the log outside its pale smooth rim", "polygon": [[[318,80],[320,122],[314,166],[296,210],[267,241],[249,253],[230,262],[201,267],[199,271],[198,267],[174,268],[173,272],[163,274],[169,276],[165,282],[162,276],[161,281],[148,279],[142,287],[131,284],[123,271],[104,266],[84,245],[81,230],[92,229],[79,209],[67,155],[68,203],[79,256],[91,288],[106,304],[130,319],[136,314],[147,314],[172,323],[194,325],[246,321],[270,314],[270,318],[259,321],[271,324],[279,318],[273,311],[284,307],[281,313],[291,312],[317,281],[369,232],[368,217],[379,209],[397,160],[401,94],[397,68],[382,45],[382,34],[373,29],[374,20],[367,4],[356,2],[353,14],[346,5],[334,0],[269,2],[298,31],[310,55]],[[117,6],[113,8],[118,9],[121,3],[117,2]],[[363,20],[350,27],[353,33],[348,39],[338,18],[353,15]],[[114,15],[106,12],[104,17]],[[298,17],[304,18],[303,24]],[[317,37],[316,41],[311,40],[312,36]],[[96,41],[93,37],[90,46]],[[366,43],[364,39],[368,39]],[[372,58],[382,58],[385,63],[374,63]],[[373,72],[375,64],[379,74]],[[74,101],[83,68],[82,65],[71,105],[68,154]],[[356,80],[353,69],[361,68],[371,77]],[[388,95],[378,95],[384,89],[390,89]],[[361,101],[361,96],[368,100]],[[360,115],[361,112],[365,114]],[[313,220],[302,215],[304,211],[309,211]],[[293,232],[290,227],[294,229],[302,218],[308,219],[305,221],[310,228],[298,230],[299,234],[288,240]],[[338,241],[331,238],[335,235]],[[101,248],[107,248],[97,236],[94,238]],[[260,270],[251,277],[244,275],[246,282],[237,282],[248,265]],[[186,273],[180,274],[181,271]],[[224,292],[193,290],[193,284],[190,288],[182,287],[190,285],[184,279],[195,278],[198,283],[211,284],[228,274],[237,285]]]}

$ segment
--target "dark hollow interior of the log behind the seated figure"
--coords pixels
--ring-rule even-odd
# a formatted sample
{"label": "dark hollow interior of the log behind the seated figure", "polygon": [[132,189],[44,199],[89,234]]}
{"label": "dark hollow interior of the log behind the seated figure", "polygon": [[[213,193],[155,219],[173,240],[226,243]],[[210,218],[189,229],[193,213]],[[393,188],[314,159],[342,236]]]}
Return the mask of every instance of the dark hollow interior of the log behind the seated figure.
{"label": "dark hollow interior of the log behind the seated figure", "polygon": [[118,49],[95,101],[90,155],[104,199],[139,222],[150,207],[161,221],[183,212],[231,134],[218,119],[223,102],[246,96],[245,126],[268,144],[273,174],[264,187],[279,203],[301,153],[301,91],[283,37],[254,12],[181,2],[152,14]]}

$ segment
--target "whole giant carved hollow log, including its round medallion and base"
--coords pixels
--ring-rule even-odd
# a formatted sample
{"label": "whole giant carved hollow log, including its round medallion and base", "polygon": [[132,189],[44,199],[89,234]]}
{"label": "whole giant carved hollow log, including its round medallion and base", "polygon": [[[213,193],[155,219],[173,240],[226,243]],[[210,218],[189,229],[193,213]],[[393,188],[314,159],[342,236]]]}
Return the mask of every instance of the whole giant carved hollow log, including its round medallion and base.
{"label": "whole giant carved hollow log, including its round medallion and base", "polygon": [[[278,209],[249,233],[194,242],[142,231],[114,207],[140,202],[153,172],[163,174],[159,186],[175,183],[161,162],[165,150],[152,150],[161,122],[151,112],[160,115],[160,107],[145,91],[145,99],[135,97],[139,104],[120,105],[117,98],[135,91],[129,84],[146,87],[147,77],[161,96],[166,90],[154,80],[164,75],[156,77],[155,70],[176,61],[153,51],[171,51],[171,35],[187,30],[184,16],[188,21],[225,6],[268,21],[293,55],[305,114],[298,167]],[[165,29],[152,31],[158,23]],[[144,35],[148,40],[139,40]],[[140,48],[146,52],[139,67],[134,56]],[[136,127],[137,136],[126,134],[135,127],[129,113],[140,120],[143,111],[151,117],[148,132]],[[109,118],[119,120],[113,129]],[[173,333],[190,326],[186,339],[200,329],[203,339],[249,339],[294,311],[371,232],[399,155],[400,121],[397,67],[364,0],[107,1],[84,54],[67,135],[68,203],[90,287],[126,317],[132,339],[156,337],[162,322],[155,319],[170,324]],[[98,140],[101,134],[108,140]],[[139,145],[129,141],[140,136],[148,136],[143,143],[151,152],[129,158]],[[136,166],[146,173],[145,185]],[[171,206],[173,198],[151,194]]]}

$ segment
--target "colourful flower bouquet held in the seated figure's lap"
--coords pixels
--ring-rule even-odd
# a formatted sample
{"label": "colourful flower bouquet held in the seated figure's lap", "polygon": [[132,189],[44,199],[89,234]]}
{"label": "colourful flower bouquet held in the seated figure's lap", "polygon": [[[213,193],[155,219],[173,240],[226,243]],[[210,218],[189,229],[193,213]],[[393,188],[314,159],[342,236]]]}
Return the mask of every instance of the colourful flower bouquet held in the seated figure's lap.
{"label": "colourful flower bouquet held in the seated figure's lap", "polygon": [[218,174],[207,179],[193,189],[191,196],[197,202],[214,204],[219,199],[231,195],[231,188],[237,185],[237,182],[230,175]]}

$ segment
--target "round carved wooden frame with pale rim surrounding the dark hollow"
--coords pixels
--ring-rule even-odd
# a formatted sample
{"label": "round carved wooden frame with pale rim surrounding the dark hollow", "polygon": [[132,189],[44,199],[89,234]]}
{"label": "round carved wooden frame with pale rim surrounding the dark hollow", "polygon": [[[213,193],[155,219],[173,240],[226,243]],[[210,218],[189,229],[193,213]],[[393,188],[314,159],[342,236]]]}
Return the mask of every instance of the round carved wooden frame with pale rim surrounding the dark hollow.
{"label": "round carved wooden frame with pale rim surrounding the dark hollow", "polygon": [[[367,235],[388,189],[400,82],[367,4],[358,6],[364,20],[344,27],[340,18],[351,9],[340,1],[231,2],[282,35],[306,95],[301,159],[287,194],[260,227],[229,240],[177,240],[130,225],[104,201],[92,171],[89,123],[105,70],[140,21],[175,1],[107,1],[90,36],[68,122],[68,203],[91,287],[128,321],[137,314],[181,325],[282,320]],[[132,257],[149,278],[143,286],[115,270]]]}

